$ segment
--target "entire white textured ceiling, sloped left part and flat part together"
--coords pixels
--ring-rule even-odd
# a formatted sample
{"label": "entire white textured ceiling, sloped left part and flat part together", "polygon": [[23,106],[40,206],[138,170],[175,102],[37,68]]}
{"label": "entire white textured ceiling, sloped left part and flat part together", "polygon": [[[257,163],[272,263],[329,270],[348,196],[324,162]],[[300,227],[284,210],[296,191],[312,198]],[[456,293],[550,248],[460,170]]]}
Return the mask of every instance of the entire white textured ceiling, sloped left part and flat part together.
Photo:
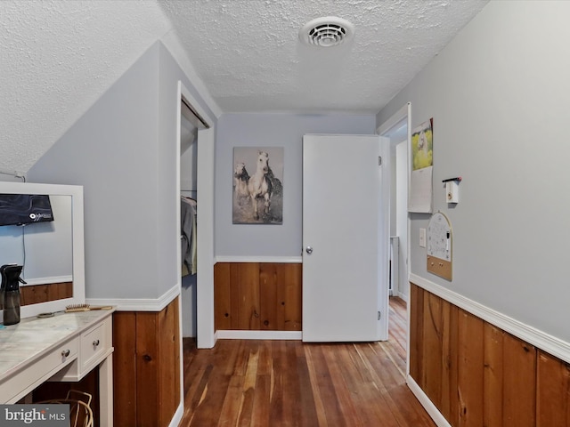
{"label": "entire white textured ceiling, sloped left part and flat part together", "polygon": [[[0,170],[27,172],[157,40],[224,112],[376,113],[485,4],[1,1]],[[352,21],[352,42],[299,44],[305,22],[329,15]]]}

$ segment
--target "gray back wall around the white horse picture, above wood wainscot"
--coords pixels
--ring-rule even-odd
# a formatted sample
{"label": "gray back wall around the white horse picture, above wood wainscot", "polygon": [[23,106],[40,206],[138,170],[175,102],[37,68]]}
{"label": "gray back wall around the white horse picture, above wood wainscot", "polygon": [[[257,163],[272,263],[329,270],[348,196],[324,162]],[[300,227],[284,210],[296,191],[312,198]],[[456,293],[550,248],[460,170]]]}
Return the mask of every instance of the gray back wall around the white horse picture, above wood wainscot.
{"label": "gray back wall around the white horse picture, above wood wainscot", "polygon": [[[216,256],[301,255],[302,141],[305,133],[373,134],[376,133],[375,117],[285,113],[224,114],[220,117],[216,138]],[[281,225],[232,224],[234,147],[283,147]],[[342,195],[338,195],[338,203],[342,203]]]}

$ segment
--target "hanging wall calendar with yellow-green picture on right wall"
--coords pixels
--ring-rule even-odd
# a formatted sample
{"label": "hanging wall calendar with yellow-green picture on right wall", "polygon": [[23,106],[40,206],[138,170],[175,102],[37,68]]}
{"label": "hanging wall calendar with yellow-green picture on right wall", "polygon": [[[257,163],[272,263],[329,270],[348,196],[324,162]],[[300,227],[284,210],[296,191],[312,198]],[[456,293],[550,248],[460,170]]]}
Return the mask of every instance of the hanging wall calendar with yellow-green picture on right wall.
{"label": "hanging wall calendar with yellow-green picture on right wall", "polygon": [[433,160],[433,118],[411,133],[411,182],[408,211],[431,214]]}

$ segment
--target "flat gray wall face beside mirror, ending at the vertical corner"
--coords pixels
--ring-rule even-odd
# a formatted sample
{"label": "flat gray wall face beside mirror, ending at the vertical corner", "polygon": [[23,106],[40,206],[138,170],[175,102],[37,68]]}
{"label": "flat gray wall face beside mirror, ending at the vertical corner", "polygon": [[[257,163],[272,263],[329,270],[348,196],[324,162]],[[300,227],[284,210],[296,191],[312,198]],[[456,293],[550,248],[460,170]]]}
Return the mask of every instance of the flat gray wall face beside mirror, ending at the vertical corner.
{"label": "flat gray wall face beside mirror, ending at the vertical corner", "polygon": [[88,298],[157,296],[158,55],[154,44],[28,171],[84,186]]}

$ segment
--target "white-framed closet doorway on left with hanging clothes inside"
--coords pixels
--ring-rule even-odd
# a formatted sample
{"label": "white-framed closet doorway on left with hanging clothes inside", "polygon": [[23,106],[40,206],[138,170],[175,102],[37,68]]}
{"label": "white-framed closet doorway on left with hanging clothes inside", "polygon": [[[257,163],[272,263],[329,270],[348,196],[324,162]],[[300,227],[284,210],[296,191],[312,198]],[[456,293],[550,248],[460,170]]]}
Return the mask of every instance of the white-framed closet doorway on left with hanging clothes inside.
{"label": "white-framed closet doorway on left with hanging clothes inside", "polygon": [[[214,120],[200,109],[188,89],[178,82],[176,101],[176,245],[179,272],[179,336],[181,401],[183,401],[183,342],[210,348],[213,325],[213,211]],[[199,159],[199,161],[198,161]],[[183,199],[186,199],[185,201]],[[187,203],[191,202],[191,204]],[[198,222],[198,215],[202,221]],[[183,219],[189,221],[184,227]],[[199,224],[199,227],[198,227]],[[185,247],[185,250],[184,250]],[[209,321],[212,318],[212,321]]]}

